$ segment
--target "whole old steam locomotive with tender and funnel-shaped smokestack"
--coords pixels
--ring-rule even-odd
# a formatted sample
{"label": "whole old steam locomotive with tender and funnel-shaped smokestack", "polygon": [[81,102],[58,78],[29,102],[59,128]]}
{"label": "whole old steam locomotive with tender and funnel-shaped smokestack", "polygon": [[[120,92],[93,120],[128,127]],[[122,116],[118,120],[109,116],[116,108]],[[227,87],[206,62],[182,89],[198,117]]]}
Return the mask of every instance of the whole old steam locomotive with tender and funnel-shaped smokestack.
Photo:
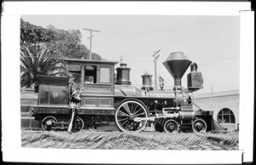
{"label": "whole old steam locomotive with tender and funnel-shaped smokestack", "polygon": [[[151,75],[143,75],[143,87],[131,85],[130,68],[121,63],[105,60],[64,59],[67,71],[79,75],[83,88],[77,108],[76,131],[83,128],[115,122],[120,131],[143,131],[154,125],[156,131],[175,134],[179,131],[205,133],[218,129],[212,118],[213,111],[193,110],[190,93],[203,88],[203,78],[197,65],[182,52],[168,56],[163,65],[174,78],[170,90],[151,87]],[[187,75],[188,88],[181,78]],[[45,131],[67,129],[70,122],[70,85],[67,77],[38,77],[38,105],[32,115]]]}

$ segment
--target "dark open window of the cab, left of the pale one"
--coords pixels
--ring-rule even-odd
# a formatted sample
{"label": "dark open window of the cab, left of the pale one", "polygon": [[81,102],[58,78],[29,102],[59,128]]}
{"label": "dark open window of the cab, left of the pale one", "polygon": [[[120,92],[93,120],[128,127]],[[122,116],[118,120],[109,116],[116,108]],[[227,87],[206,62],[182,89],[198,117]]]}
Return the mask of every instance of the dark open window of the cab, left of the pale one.
{"label": "dark open window of the cab, left of the pale one", "polygon": [[96,65],[85,65],[84,83],[96,83],[97,79]]}

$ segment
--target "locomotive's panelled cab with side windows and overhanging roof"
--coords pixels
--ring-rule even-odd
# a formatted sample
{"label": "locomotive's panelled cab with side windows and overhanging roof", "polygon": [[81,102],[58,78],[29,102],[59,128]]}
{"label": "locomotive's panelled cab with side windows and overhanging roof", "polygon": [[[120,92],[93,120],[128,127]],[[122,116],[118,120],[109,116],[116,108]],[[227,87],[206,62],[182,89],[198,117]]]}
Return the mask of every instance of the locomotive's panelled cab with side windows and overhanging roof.
{"label": "locomotive's panelled cab with side windows and overhanging roof", "polygon": [[81,94],[79,113],[86,115],[113,115],[114,65],[104,60],[65,59],[71,73],[79,73]]}

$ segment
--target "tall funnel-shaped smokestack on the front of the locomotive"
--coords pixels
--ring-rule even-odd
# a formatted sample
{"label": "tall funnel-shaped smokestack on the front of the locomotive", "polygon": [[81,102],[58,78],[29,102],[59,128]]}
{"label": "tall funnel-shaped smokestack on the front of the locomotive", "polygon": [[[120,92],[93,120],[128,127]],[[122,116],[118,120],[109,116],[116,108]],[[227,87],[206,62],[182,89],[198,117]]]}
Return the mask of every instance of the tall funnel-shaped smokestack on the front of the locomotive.
{"label": "tall funnel-shaped smokestack on the front of the locomotive", "polygon": [[174,52],[169,55],[165,62],[163,62],[163,65],[166,66],[166,69],[174,78],[175,87],[181,86],[181,78],[191,63],[192,62],[183,54],[183,52]]}

